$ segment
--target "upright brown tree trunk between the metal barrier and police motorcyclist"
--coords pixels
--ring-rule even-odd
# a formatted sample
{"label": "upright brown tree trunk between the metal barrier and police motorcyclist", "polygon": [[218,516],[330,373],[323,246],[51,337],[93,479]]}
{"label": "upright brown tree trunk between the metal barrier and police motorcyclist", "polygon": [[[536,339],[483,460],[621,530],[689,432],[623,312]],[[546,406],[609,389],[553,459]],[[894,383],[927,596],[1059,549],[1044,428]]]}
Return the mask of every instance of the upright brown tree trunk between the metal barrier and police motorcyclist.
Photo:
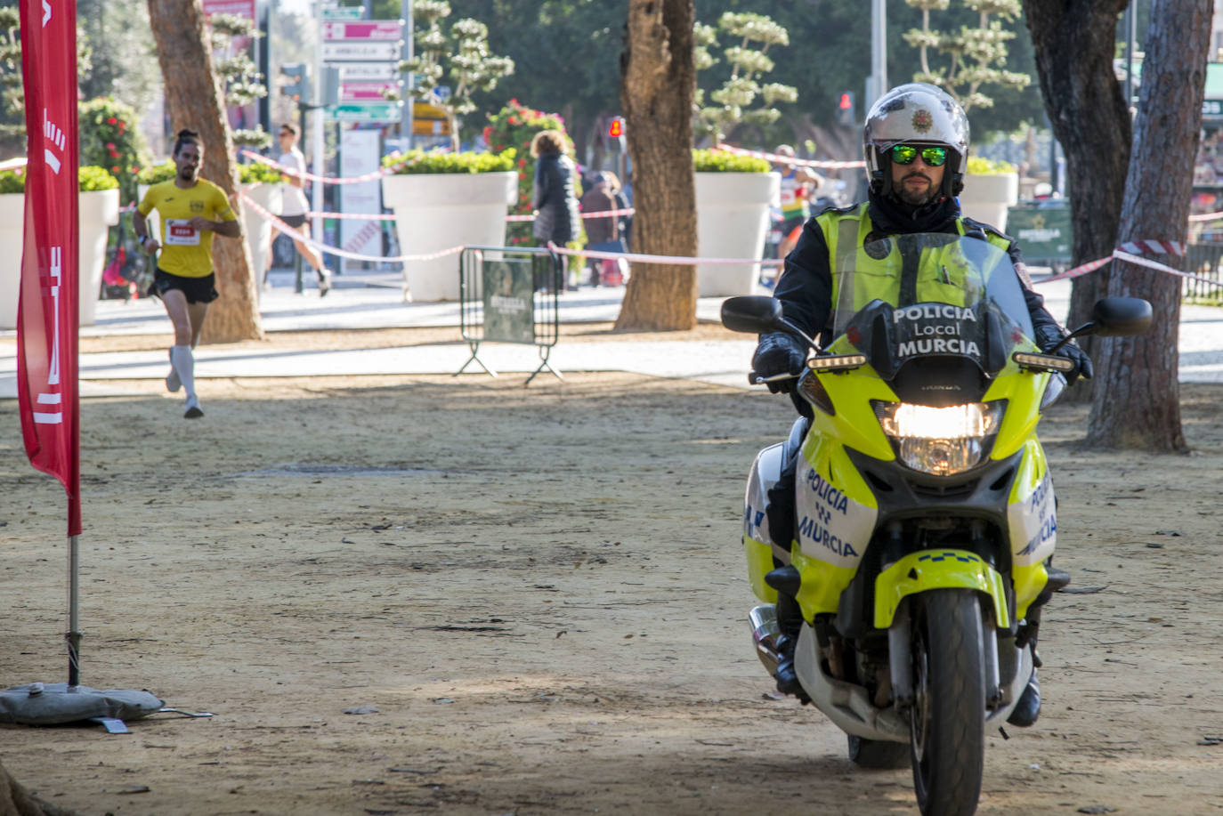
{"label": "upright brown tree trunk between the metal barrier and police motorcyclist", "polygon": [[[632,250],[696,256],[692,0],[630,0],[620,104],[632,157]],[[696,325],[696,267],[634,263],[616,329]]]}

